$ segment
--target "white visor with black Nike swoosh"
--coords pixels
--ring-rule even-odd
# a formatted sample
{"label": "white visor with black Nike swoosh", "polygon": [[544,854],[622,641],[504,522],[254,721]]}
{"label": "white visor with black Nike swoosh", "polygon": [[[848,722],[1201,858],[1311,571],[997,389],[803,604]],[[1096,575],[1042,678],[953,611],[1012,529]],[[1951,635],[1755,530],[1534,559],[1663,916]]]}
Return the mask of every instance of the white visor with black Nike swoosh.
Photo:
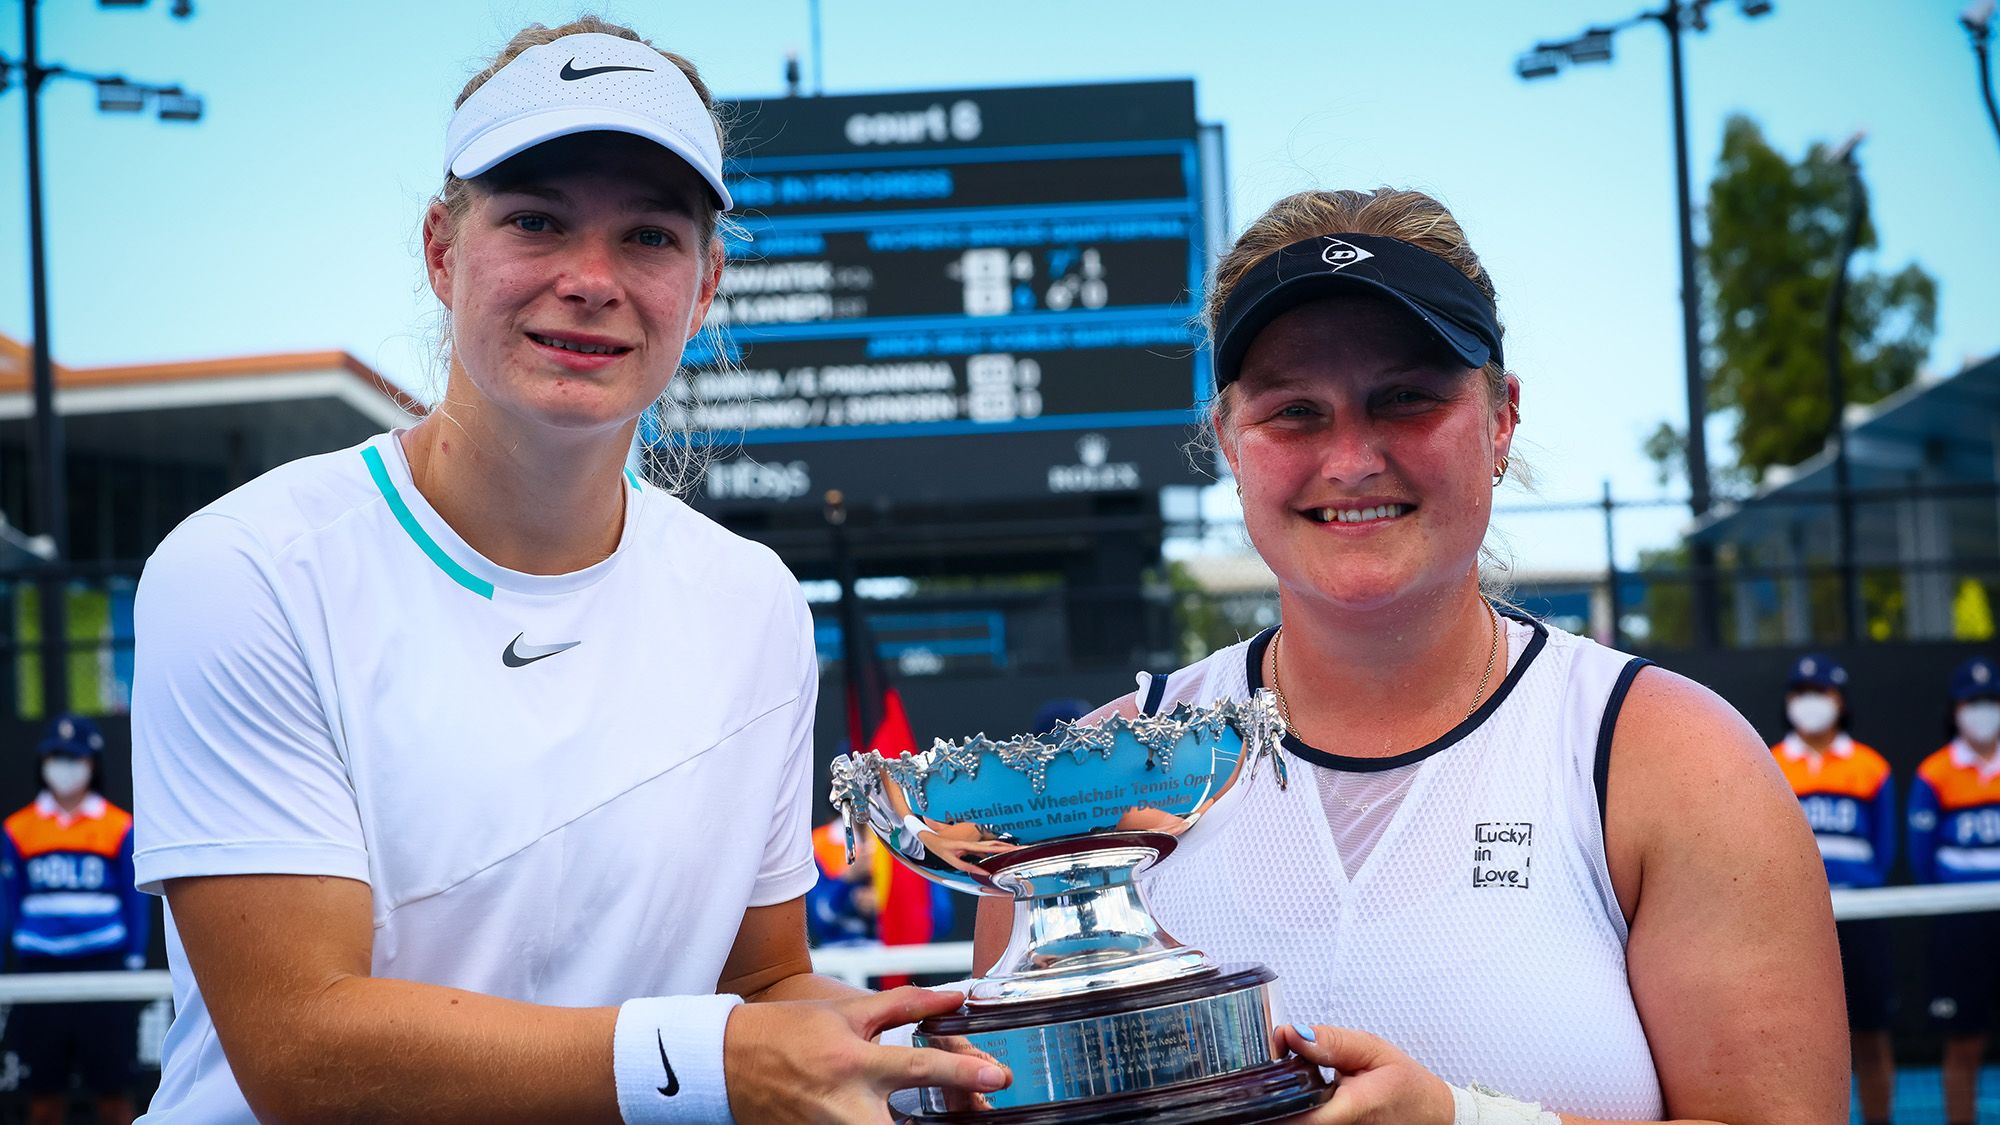
{"label": "white visor with black Nike swoosh", "polygon": [[470,180],[578,132],[644,136],[708,180],[722,210],[734,206],[714,118],[688,76],[642,42],[598,32],[530,46],[474,90],[444,132],[444,170]]}

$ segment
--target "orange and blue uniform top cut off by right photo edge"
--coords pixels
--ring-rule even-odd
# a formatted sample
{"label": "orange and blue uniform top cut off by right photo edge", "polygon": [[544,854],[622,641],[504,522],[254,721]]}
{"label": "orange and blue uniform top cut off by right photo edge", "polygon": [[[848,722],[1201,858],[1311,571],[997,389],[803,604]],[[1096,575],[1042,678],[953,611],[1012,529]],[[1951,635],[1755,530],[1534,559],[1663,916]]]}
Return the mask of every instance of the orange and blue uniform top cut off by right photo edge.
{"label": "orange and blue uniform top cut off by right photo edge", "polygon": [[1918,883],[2000,879],[2000,755],[1954,739],[1916,767],[1910,869]]}

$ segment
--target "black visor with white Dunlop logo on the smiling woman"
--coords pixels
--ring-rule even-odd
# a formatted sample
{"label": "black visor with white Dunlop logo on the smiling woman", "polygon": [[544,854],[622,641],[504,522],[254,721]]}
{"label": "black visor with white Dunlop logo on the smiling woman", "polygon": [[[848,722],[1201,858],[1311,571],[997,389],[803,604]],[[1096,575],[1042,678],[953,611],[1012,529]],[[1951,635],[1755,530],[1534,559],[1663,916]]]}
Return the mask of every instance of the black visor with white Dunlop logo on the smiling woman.
{"label": "black visor with white Dunlop logo on the smiling woman", "polygon": [[1458,266],[1400,238],[1320,234],[1270,254],[1236,282],[1216,330],[1216,390],[1236,382],[1266,324],[1322,296],[1374,292],[1402,304],[1466,366],[1500,360],[1500,318]]}

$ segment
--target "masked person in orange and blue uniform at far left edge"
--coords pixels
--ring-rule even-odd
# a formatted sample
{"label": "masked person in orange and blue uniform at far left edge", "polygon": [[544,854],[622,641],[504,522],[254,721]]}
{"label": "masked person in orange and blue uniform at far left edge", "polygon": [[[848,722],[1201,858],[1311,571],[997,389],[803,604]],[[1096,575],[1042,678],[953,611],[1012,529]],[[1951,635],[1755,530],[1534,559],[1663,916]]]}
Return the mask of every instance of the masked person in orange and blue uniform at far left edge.
{"label": "masked person in orange and blue uniform at far left edge", "polygon": [[[22,973],[146,967],[150,907],[132,883],[132,815],[98,793],[104,735],[66,715],[36,747],[42,793],[0,825],[0,921]],[[20,1005],[10,1037],[28,1071],[28,1119],[68,1119],[70,1075],[98,1119],[132,1121],[134,1005]]]}

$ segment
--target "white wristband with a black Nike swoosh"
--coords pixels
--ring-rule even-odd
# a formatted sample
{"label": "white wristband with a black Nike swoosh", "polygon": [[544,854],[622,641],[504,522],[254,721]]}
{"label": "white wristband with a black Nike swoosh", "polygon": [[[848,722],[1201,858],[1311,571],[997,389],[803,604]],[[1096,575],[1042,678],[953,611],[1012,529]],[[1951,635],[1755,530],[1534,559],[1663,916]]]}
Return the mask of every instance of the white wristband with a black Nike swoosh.
{"label": "white wristband with a black Nike swoosh", "polygon": [[742,997],[646,997],[618,1007],[612,1075],[626,1125],[734,1125],[722,1033]]}

